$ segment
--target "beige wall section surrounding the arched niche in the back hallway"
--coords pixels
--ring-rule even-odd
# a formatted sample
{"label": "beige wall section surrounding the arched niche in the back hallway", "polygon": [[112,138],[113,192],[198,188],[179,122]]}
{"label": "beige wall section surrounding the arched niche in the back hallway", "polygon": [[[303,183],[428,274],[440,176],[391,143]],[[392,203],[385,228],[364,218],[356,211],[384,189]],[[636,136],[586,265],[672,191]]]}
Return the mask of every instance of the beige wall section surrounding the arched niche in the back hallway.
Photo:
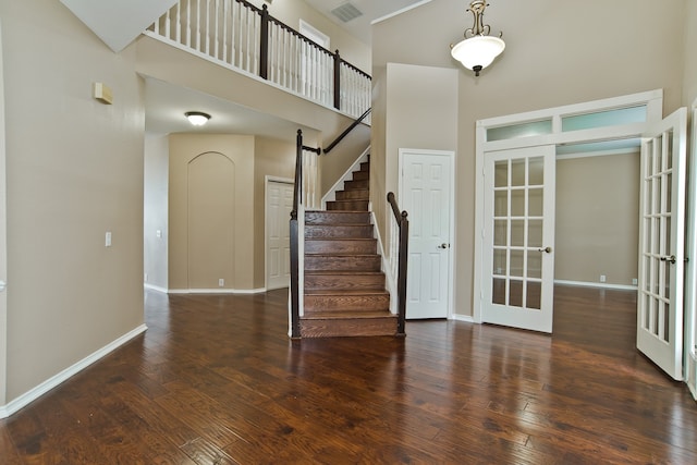
{"label": "beige wall section surrounding the arched niche in the back hallway", "polygon": [[[171,134],[169,176],[169,289],[216,289],[218,279],[225,280],[224,289],[250,290],[254,283],[254,136],[227,134]],[[230,160],[233,168],[232,250],[212,238],[199,237],[191,243],[189,228],[189,168],[201,154],[217,152]],[[218,199],[211,197],[209,205],[218,208]],[[205,200],[204,200],[205,205]],[[201,213],[197,210],[197,215]],[[205,212],[203,212],[205,213]],[[198,218],[198,217],[197,217]],[[210,228],[224,228],[211,223]],[[195,256],[189,256],[192,249]],[[201,256],[217,259],[210,262]],[[221,274],[222,273],[222,274]],[[189,282],[189,274],[197,277]],[[210,284],[203,284],[201,280]]]}

